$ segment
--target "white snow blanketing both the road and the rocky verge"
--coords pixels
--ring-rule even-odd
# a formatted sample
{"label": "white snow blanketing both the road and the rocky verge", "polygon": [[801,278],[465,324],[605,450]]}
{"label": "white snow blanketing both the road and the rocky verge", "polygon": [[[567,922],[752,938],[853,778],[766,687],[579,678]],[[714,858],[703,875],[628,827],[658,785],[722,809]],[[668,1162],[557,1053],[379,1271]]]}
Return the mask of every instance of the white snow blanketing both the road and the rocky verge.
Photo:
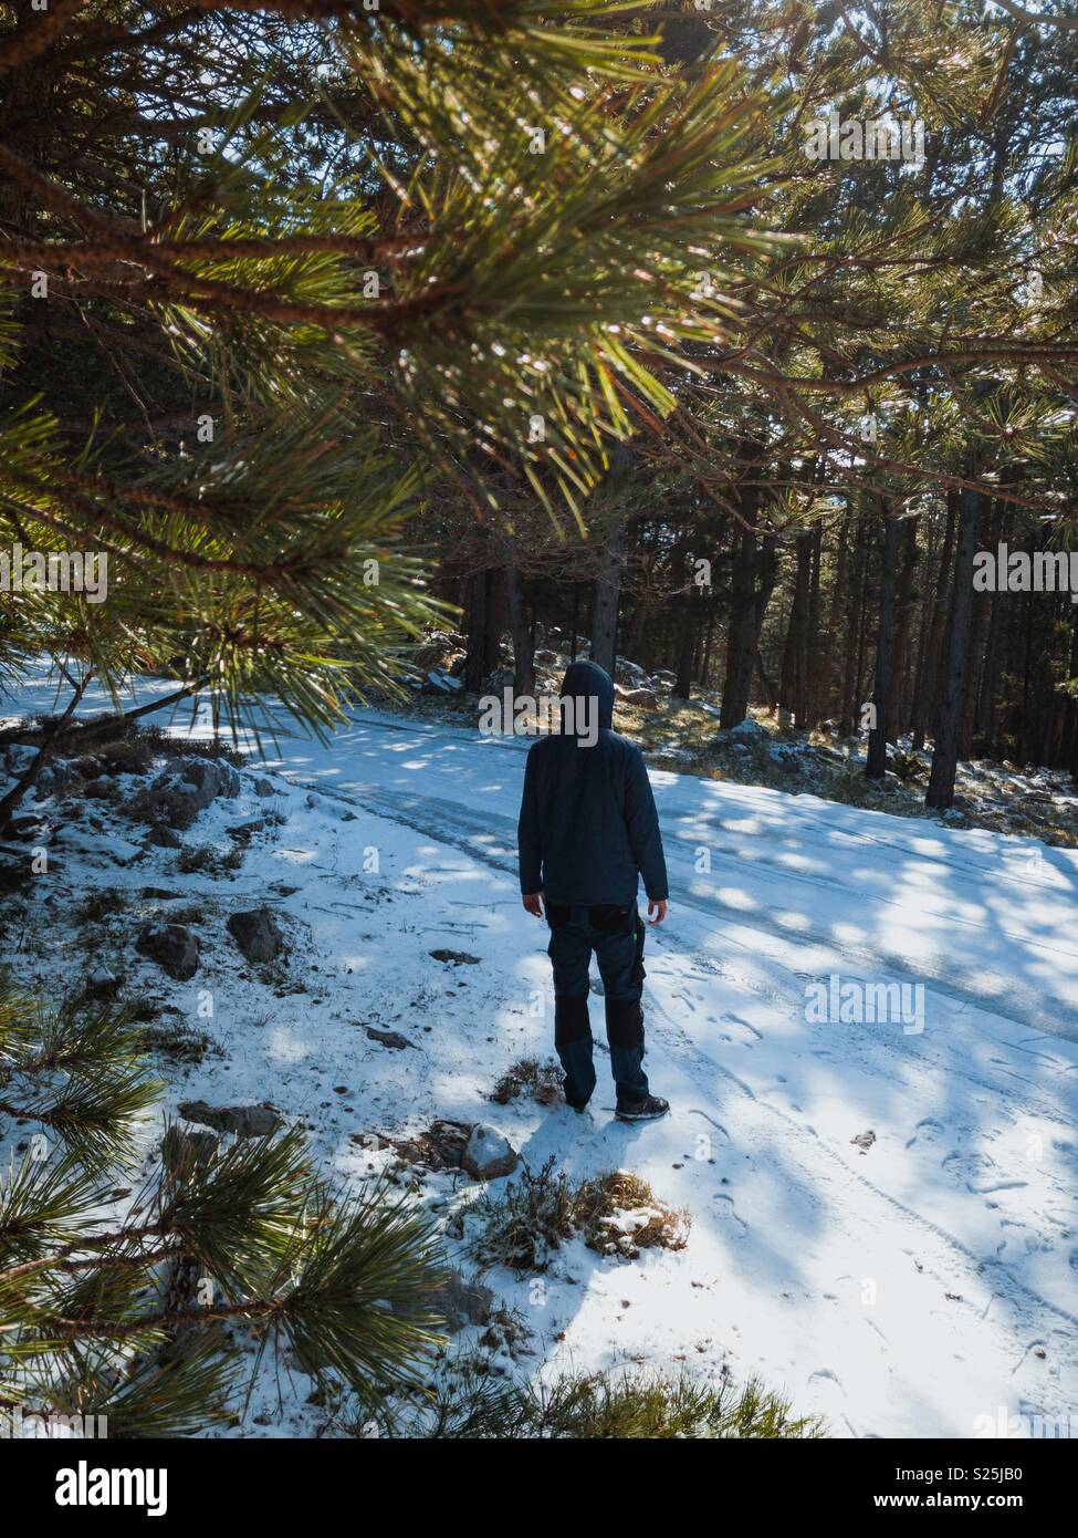
{"label": "white snow blanketing both the road and the rocky verge", "polygon": [[[5,709],[51,704],[38,680]],[[92,883],[131,894],[126,946],[94,966],[121,964],[221,1049],[168,1066],[168,1109],[272,1101],[346,1184],[384,1163],[372,1132],[481,1121],[532,1170],[549,1157],[572,1178],[632,1170],[689,1210],[680,1252],[627,1261],[574,1243],[538,1286],[487,1273],[531,1332],[517,1372],[755,1373],[838,1436],[972,1436],[1016,1413],[1066,1426],[1078,1400],[1078,855],[652,771],[670,912],[647,935],[646,1066],[672,1115],[614,1121],[598,1001],[589,1114],[497,1106],[486,1097],[514,1061],[552,1052],[546,929],[515,880],[527,746],[375,711],[328,744],[263,738],[249,767],[278,795],[258,800],[245,774],[241,795],[185,835],[225,851],[226,826],[284,814],[231,880],[178,875],[158,849],[105,863],[101,847],[137,852],[129,824],[105,844],[55,827],[60,904]],[[152,881],[205,909],[189,983],[134,954],[138,924],[168,906],[140,907]],[[225,930],[254,903],[295,947],[277,989]],[[438,947],[480,964],[437,961]],[[52,978],[89,970],[58,930],[42,958],[3,949],[25,981],[35,964]],[[920,984],[924,1029],[813,1023],[809,989],[832,975]],[[368,1024],[411,1049],[371,1040]],[[448,1213],[467,1189],[434,1173],[423,1200]],[[248,1433],[314,1433],[309,1390],[294,1369],[274,1375],[254,1401],[265,1424]]]}

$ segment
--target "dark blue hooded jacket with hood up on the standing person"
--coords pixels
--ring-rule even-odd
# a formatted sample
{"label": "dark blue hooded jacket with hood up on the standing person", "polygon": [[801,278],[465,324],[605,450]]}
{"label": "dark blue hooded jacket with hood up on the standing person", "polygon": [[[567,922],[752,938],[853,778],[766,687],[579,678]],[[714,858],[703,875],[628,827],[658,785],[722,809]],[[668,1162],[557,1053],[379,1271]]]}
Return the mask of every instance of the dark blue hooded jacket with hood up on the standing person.
{"label": "dark blue hooded jacket with hood up on the standing person", "polygon": [[[652,901],[664,900],[666,861],[655,798],[643,754],[611,731],[614,684],[595,663],[572,663],[561,698],[587,698],[574,711],[574,732],[543,737],[527,752],[517,843],[521,892],[547,903],[592,907],[635,903],[638,877]],[[598,740],[581,741],[595,720]]]}

